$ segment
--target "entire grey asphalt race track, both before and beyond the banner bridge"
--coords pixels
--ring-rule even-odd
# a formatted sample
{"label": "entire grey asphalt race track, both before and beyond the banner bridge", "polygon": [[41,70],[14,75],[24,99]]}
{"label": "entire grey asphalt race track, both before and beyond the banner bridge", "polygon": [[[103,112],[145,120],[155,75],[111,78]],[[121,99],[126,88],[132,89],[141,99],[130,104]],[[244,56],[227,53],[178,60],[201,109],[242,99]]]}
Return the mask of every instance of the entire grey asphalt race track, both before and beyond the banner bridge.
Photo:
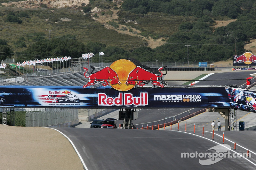
{"label": "entire grey asphalt race track, both before and beyond the banner bridge", "polygon": [[[215,73],[196,83],[196,85],[237,85],[246,87],[246,78],[256,71]],[[238,80],[244,79],[244,80]],[[215,81],[217,80],[217,81]],[[142,109],[139,119],[133,124],[153,122],[173,116],[183,111],[181,109]],[[117,112],[118,113],[118,112]],[[225,144],[231,147],[231,153],[236,142],[235,152],[247,153],[250,151],[252,158],[224,158],[220,161],[206,161],[201,165],[199,160],[205,162],[207,158],[181,158],[181,153],[209,153],[209,150],[218,144],[223,145],[223,131],[215,131],[212,140],[210,122],[223,118],[218,113],[203,113],[192,117],[188,121],[187,132],[184,122],[180,130],[177,124],[164,130],[142,129],[92,129],[92,128],[55,128],[65,134],[74,144],[78,155],[81,155],[85,169],[256,169],[256,131],[225,131]],[[247,113],[246,113],[247,114]],[[244,115],[246,115],[244,113]],[[118,115],[118,114],[117,114]],[[205,115],[204,117],[202,117]],[[210,116],[211,115],[211,116]],[[201,116],[201,117],[200,117]],[[239,115],[240,116],[240,115]],[[237,119],[240,119],[242,115]],[[112,116],[111,116],[112,117]],[[193,133],[194,122],[197,122],[196,133]],[[183,124],[182,124],[183,123]],[[118,124],[118,122],[117,122]],[[202,125],[205,125],[202,136]],[[222,124],[222,125],[223,125]],[[222,127],[224,128],[224,127]],[[168,130],[167,130],[168,129]],[[224,130],[224,129],[222,129]],[[225,146],[225,145],[223,145]],[[220,148],[224,148],[220,146]],[[222,150],[221,150],[222,151]],[[221,152],[219,151],[219,152]],[[224,152],[224,151],[223,151]],[[214,163],[214,164],[212,164]],[[211,164],[211,165],[210,165]]]}

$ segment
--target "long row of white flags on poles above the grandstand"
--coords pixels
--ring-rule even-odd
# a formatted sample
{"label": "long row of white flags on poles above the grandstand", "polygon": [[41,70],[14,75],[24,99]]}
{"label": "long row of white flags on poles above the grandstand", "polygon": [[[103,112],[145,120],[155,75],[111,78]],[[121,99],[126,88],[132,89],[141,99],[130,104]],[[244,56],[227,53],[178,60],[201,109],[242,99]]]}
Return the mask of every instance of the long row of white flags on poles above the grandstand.
{"label": "long row of white flags on poles above the grandstand", "polygon": [[25,66],[25,65],[36,65],[36,63],[47,63],[47,62],[54,62],[54,61],[68,61],[71,60],[71,56],[65,57],[55,57],[55,58],[45,58],[45,59],[37,59],[37,60],[28,60],[17,63],[17,67]]}

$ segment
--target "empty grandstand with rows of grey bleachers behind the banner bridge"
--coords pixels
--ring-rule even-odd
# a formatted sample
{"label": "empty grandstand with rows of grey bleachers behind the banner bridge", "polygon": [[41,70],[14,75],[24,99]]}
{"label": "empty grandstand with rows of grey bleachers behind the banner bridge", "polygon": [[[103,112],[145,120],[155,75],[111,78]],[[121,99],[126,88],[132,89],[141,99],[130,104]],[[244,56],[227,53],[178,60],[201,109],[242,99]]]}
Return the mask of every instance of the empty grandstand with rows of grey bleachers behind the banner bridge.
{"label": "empty grandstand with rows of grey bleachers behind the banner bridge", "polygon": [[[88,82],[88,80],[84,78],[83,67],[93,65],[95,67],[94,72],[105,67],[98,67],[99,63],[88,64],[88,62],[83,62],[81,59],[78,61],[80,62],[72,60],[70,67],[68,68],[44,71],[37,70],[35,72],[23,75],[12,75],[13,78],[8,79],[8,81],[7,79],[2,80],[1,85],[79,86]],[[104,65],[110,65],[110,63],[105,63]],[[89,71],[86,73],[86,75],[89,75],[91,70],[92,69],[89,68]]]}

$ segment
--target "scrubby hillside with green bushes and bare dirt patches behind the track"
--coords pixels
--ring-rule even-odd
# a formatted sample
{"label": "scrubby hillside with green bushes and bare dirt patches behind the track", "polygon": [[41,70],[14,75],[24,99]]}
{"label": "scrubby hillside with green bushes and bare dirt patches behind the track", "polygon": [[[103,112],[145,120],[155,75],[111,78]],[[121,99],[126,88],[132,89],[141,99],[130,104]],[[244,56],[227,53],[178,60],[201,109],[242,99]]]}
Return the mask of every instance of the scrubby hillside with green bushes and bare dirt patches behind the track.
{"label": "scrubby hillside with green bushes and bare dirt patches behind the track", "polygon": [[[247,29],[255,22],[254,15],[248,17],[255,11],[251,7],[253,2],[244,6],[237,1],[234,5],[243,10],[235,10],[234,6],[227,6],[230,0],[183,1],[176,5],[173,2],[177,0],[1,1],[4,2],[0,6],[1,38],[7,40],[4,43],[13,51],[12,57],[21,60],[28,59],[28,54],[36,58],[61,55],[77,58],[89,51],[95,54],[105,51],[106,61],[132,57],[140,61],[157,58],[186,62],[188,44],[189,60],[193,62],[231,59],[235,44],[238,55],[255,51],[256,35],[253,29]],[[221,10],[225,7],[228,11]],[[60,49],[65,48],[64,43],[81,46],[74,46],[75,53],[72,49],[56,53],[53,48],[56,45],[47,43],[50,37],[63,41],[58,42],[62,44]],[[39,41],[44,42],[37,44]],[[45,45],[52,47],[49,51],[39,50]]]}

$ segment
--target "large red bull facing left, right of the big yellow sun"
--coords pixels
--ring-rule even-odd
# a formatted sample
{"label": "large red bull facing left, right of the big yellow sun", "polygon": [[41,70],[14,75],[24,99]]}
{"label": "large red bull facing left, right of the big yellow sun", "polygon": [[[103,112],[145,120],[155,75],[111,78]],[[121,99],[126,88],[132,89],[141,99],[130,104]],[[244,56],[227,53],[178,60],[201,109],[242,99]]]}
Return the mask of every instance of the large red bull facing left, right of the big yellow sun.
{"label": "large red bull facing left, right of the big yellow sun", "polygon": [[148,70],[145,70],[141,68],[140,66],[137,66],[135,69],[133,69],[127,78],[127,81],[125,82],[126,85],[135,85],[137,81],[137,85],[143,87],[145,83],[150,82],[153,85],[158,85],[160,87],[164,87],[163,84],[161,84],[161,80],[159,81],[158,78],[161,78],[163,76],[163,73],[160,71],[163,67],[160,67],[158,70],[161,73],[161,75],[157,75],[154,73],[149,72]]}

